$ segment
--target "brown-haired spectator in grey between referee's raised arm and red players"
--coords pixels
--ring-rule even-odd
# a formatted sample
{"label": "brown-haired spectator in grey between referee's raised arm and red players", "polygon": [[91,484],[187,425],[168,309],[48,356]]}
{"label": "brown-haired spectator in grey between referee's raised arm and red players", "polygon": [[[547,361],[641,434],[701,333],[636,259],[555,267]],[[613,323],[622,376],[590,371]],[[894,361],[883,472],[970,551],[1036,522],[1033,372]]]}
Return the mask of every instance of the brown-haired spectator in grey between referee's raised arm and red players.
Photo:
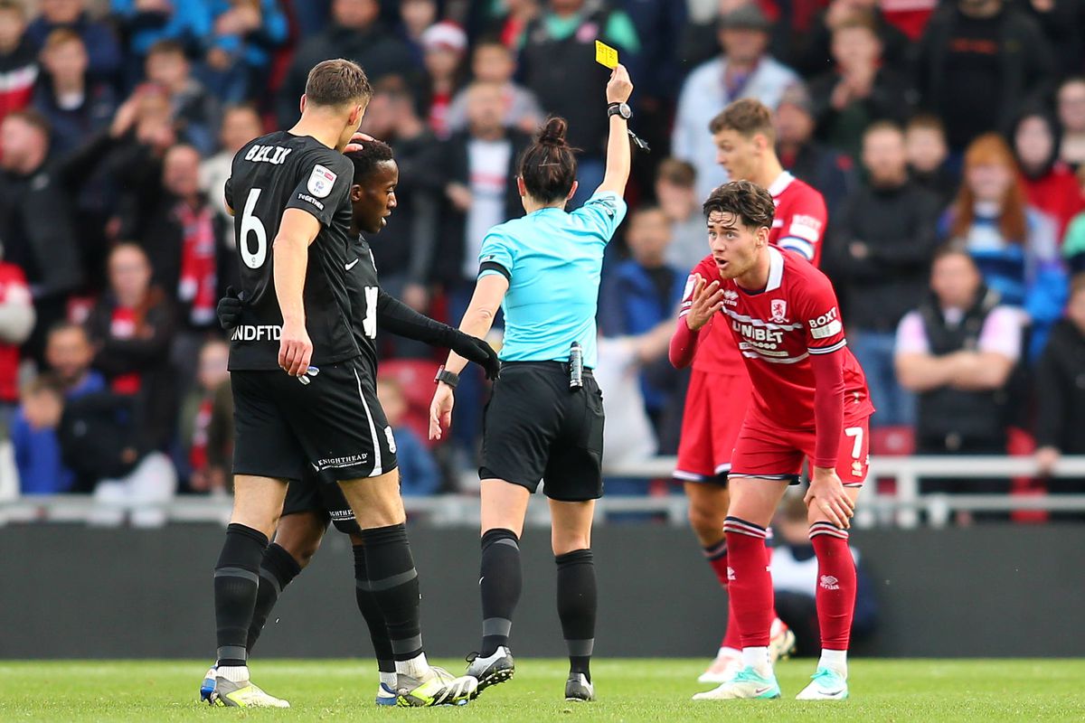
{"label": "brown-haired spectator in grey between referee's raised arm and red players", "polygon": [[709,248],[693,165],[678,158],[661,163],[655,175],[655,198],[671,221],[672,242],[667,246],[667,263],[679,269],[692,269]]}

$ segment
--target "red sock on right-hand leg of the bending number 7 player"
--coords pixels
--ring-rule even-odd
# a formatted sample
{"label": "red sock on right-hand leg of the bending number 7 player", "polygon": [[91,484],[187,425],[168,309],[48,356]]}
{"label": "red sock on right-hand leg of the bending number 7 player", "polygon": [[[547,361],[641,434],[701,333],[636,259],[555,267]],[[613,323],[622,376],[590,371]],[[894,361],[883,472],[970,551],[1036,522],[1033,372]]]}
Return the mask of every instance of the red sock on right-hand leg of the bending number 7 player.
{"label": "red sock on right-hand leg of the bending number 7 player", "polygon": [[847,547],[847,531],[830,522],[815,522],[810,525],[809,537],[817,555],[816,599],[821,648],[846,650],[852,634],[856,588],[855,560]]}

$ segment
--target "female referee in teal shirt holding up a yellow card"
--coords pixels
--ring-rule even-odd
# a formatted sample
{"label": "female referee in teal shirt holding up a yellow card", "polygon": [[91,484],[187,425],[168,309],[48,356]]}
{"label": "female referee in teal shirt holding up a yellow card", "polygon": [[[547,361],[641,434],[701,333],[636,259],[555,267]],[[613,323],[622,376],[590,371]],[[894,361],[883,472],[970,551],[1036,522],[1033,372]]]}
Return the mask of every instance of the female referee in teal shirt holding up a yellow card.
{"label": "female referee in teal shirt holding up a yellow card", "polygon": [[[478,253],[478,283],[460,330],[484,337],[505,311],[501,374],[483,425],[482,649],[469,656],[478,690],[509,680],[512,612],[520,599],[520,535],[527,500],[545,479],[558,564],[558,616],[569,647],[566,700],[592,700],[588,663],[596,629],[591,516],[602,495],[603,400],[596,363],[596,301],[603,250],[625,218],[629,178],[626,101],[629,74],[618,65],[607,83],[607,173],[572,214],[576,157],[562,118],[547,120],[520,158],[516,185],[526,216],[489,230]],[[430,437],[451,422],[457,374],[467,360],[449,353],[437,373]]]}

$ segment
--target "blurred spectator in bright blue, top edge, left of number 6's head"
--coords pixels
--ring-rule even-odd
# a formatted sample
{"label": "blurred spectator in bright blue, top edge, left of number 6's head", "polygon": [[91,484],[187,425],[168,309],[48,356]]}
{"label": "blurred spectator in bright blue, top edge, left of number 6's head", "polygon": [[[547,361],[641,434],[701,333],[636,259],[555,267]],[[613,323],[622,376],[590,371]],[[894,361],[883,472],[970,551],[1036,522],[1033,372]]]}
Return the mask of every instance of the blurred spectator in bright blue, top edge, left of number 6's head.
{"label": "blurred spectator in bright blue, top edge, left of number 6's head", "polygon": [[224,103],[263,94],[271,54],[286,41],[286,14],[278,0],[210,0],[210,43],[199,75]]}

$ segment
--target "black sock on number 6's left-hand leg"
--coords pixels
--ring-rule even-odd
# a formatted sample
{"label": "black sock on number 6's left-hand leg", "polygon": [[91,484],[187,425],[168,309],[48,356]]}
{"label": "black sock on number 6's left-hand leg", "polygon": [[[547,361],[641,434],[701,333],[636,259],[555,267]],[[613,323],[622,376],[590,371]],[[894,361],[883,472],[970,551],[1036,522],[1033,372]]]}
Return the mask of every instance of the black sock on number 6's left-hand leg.
{"label": "black sock on number 6's left-hand leg", "polygon": [[268,539],[259,530],[232,522],[215,566],[215,627],[218,666],[244,666],[248,628],[256,607],[260,560]]}

